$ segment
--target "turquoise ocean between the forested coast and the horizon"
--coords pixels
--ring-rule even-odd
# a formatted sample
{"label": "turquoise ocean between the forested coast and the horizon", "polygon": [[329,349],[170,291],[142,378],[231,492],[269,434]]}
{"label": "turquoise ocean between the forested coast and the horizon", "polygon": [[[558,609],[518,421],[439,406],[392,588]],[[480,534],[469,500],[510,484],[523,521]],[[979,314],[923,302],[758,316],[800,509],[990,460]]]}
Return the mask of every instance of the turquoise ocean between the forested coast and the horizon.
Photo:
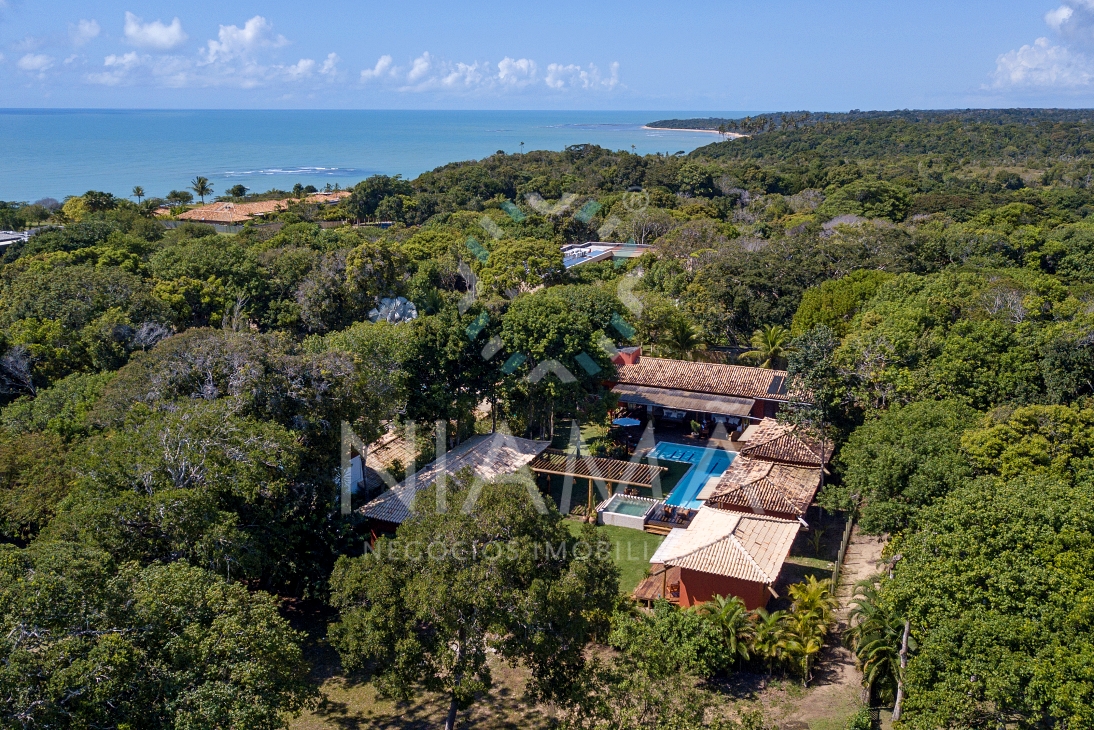
{"label": "turquoise ocean between the forested coast and the horizon", "polygon": [[197,175],[220,193],[294,183],[412,178],[498,150],[593,143],[639,154],[690,152],[710,132],[643,129],[655,119],[749,112],[110,111],[0,109],[0,200],[58,200],[94,189],[128,196],[184,189]]}

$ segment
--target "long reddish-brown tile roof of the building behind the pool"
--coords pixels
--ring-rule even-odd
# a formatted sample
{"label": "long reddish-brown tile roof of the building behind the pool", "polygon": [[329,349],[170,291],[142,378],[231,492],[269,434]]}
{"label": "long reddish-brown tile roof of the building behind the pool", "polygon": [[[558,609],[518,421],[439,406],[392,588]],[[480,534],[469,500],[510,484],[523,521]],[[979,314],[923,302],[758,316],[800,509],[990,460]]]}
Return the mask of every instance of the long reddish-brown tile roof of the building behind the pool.
{"label": "long reddish-brown tile roof of the building behind the pool", "polygon": [[787,371],[641,357],[618,369],[617,382],[710,395],[767,401],[794,401],[787,392]]}

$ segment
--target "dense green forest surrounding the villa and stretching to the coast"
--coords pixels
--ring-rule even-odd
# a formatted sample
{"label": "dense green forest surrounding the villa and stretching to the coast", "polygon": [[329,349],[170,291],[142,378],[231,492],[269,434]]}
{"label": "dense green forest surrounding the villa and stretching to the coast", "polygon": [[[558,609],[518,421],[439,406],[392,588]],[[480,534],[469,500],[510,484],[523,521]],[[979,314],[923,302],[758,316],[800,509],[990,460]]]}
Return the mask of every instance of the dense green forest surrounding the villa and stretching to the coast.
{"label": "dense green forest surrounding the villa and stretching to the coast", "polygon": [[[347,671],[461,709],[501,631],[491,650],[567,727],[709,722],[695,708],[714,695],[684,707],[706,685],[680,676],[807,680],[815,651],[785,626],[827,621],[824,596],[776,621],[636,618],[605,592],[610,560],[414,575],[360,557],[342,421],[365,440],[427,424],[422,461],[437,421],[450,447],[493,418],[532,437],[603,422],[625,345],[784,355],[813,392],[803,416],[839,444],[819,501],[889,537],[862,589],[873,623],[848,640],[881,668],[875,697],[901,685],[901,725],[1094,726],[1094,118],[653,126],[710,123],[746,136],[498,153],[370,177],[330,208],[300,188],[279,225],[236,234],[168,228],[155,198],[0,204],[0,228],[39,229],[0,259],[0,726],[281,727],[316,691],[279,599],[331,606]],[[653,250],[563,267],[561,245],[595,240]],[[417,318],[384,321],[400,296]],[[548,361],[570,376],[529,378]],[[491,489],[482,520],[427,512],[397,540],[569,540],[557,511]],[[737,650],[756,636],[767,653]],[[616,663],[586,661],[605,642]]]}

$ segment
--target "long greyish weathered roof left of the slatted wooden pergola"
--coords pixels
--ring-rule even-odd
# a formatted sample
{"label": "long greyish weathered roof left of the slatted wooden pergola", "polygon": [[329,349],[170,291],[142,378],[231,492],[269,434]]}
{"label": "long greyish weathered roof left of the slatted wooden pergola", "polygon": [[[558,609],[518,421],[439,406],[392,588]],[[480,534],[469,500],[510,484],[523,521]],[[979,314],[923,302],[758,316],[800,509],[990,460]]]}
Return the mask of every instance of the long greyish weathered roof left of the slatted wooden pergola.
{"label": "long greyish weathered roof left of the slatted wooden pergola", "polygon": [[[475,476],[489,482],[520,470],[549,445],[549,441],[531,441],[501,432],[476,436],[445,454],[443,473],[453,475],[470,468]],[[359,511],[373,520],[401,524],[410,517],[415,496],[441,474],[440,460],[427,464]]]}

